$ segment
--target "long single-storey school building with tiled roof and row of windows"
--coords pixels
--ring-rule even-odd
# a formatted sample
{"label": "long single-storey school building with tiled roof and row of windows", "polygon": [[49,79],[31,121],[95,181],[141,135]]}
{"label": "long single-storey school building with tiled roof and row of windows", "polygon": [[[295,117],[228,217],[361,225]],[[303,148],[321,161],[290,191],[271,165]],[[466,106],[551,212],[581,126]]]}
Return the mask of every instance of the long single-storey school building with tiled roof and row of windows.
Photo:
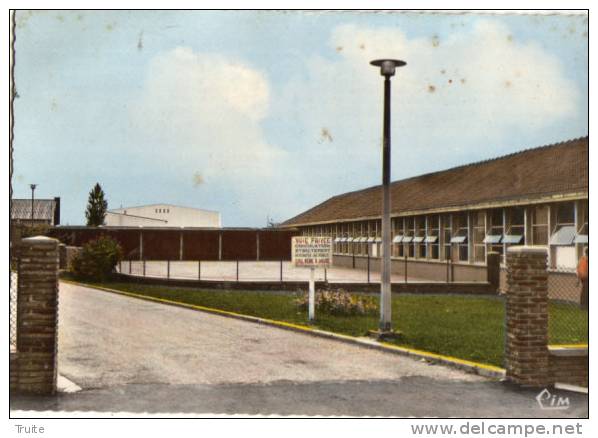
{"label": "long single-storey school building with tiled roof and row of windows", "polygon": [[[287,220],[331,236],[334,263],[379,263],[380,186],[334,196]],[[551,268],[573,268],[588,245],[588,137],[391,184],[393,272],[484,279],[487,254],[512,245],[548,249]],[[408,265],[408,266],[407,266]]]}

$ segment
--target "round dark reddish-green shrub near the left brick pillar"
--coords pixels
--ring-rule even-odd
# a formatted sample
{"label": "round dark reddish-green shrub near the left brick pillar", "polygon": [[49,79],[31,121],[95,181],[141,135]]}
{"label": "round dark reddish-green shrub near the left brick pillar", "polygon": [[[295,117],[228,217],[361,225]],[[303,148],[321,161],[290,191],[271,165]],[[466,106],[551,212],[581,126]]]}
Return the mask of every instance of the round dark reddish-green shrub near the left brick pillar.
{"label": "round dark reddish-green shrub near the left brick pillar", "polygon": [[71,260],[70,269],[75,278],[103,282],[110,278],[121,258],[119,243],[110,237],[100,237],[83,245]]}

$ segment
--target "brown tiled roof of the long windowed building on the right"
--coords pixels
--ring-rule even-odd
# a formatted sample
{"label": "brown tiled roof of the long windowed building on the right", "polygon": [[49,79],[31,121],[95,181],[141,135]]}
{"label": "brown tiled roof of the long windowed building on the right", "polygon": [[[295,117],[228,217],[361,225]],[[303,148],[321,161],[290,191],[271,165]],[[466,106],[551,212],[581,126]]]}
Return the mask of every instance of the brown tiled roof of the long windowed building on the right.
{"label": "brown tiled roof of the long windowed building on the right", "polygon": [[[588,137],[416,176],[391,184],[391,214],[588,191]],[[344,193],[282,226],[380,217],[381,186]]]}

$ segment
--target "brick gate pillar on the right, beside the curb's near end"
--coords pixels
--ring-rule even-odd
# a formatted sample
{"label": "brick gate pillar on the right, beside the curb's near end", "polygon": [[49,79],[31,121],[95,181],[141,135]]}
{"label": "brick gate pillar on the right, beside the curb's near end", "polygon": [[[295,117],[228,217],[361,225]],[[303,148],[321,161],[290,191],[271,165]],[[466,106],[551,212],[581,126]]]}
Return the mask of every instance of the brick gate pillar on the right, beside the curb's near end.
{"label": "brick gate pillar on the right, beside the curb's near end", "polygon": [[513,383],[550,384],[546,248],[507,250],[506,377]]}

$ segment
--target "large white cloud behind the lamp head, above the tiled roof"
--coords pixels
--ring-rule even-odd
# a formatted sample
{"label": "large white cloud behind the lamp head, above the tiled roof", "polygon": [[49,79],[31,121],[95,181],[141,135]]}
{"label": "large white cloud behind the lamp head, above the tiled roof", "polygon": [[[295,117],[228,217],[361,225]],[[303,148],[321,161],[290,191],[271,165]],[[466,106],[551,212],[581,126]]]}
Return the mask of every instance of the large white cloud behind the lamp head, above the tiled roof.
{"label": "large white cloud behind the lamp head, above the tiled roof", "polygon": [[448,37],[417,38],[399,28],[342,25],[333,29],[329,47],[336,56],[311,58],[307,75],[285,89],[292,105],[279,111],[292,113],[314,139],[323,127],[331,133],[334,143],[327,148],[309,136],[306,141],[308,153],[334,157],[331,179],[354,180],[355,163],[361,174],[379,168],[383,80],[369,65],[372,59],[408,63],[392,80],[393,143],[398,139],[402,148],[394,168],[403,175],[405,160],[408,174],[430,159],[443,168],[449,154],[465,155],[488,140],[500,144],[506,133],[537,133],[577,115],[579,92],[560,60],[539,44],[517,41],[494,21],[479,20]]}

